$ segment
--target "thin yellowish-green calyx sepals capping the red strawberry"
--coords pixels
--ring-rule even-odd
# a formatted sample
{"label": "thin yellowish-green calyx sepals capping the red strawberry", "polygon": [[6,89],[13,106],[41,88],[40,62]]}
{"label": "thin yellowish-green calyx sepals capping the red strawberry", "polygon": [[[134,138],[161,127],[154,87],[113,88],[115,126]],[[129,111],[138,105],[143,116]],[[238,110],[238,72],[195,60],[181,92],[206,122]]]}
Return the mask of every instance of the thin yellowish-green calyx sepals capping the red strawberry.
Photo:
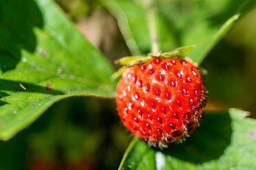
{"label": "thin yellowish-green calyx sepals capping the red strawberry", "polygon": [[118,69],[117,72],[114,72],[114,74],[112,74],[111,79],[117,79],[118,77],[121,77],[122,73],[125,72],[128,67],[132,67],[137,64],[144,64],[155,58],[169,59],[172,57],[182,57],[183,55],[186,55],[188,52],[190,52],[193,47],[194,45],[178,47],[171,52],[159,53],[157,55],[149,54],[147,56],[139,55],[122,57],[119,60],[114,61],[115,64],[121,64],[122,67]]}

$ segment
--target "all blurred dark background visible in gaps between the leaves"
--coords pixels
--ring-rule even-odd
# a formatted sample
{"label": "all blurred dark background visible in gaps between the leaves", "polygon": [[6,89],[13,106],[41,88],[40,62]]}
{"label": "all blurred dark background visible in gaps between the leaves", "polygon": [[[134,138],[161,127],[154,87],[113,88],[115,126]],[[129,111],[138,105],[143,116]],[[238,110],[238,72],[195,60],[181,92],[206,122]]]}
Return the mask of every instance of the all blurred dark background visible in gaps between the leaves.
{"label": "all blurred dark background visible in gaps between the leaves", "polygon": [[[56,1],[111,63],[130,55],[117,21],[100,1]],[[255,18],[253,8],[203,61],[207,109],[242,108],[256,118]],[[29,128],[0,142],[0,169],[117,169],[132,136],[115,107],[114,99],[92,97],[55,103]]]}

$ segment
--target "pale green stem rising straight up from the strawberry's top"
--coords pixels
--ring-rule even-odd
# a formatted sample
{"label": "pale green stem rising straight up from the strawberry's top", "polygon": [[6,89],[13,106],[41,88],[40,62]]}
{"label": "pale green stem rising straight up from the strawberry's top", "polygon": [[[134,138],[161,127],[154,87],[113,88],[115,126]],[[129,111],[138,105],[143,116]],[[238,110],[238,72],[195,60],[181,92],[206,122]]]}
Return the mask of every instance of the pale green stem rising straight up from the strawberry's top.
{"label": "pale green stem rising straight up from the strawberry's top", "polygon": [[153,55],[157,55],[160,52],[159,48],[159,39],[158,39],[158,31],[157,31],[157,17],[156,17],[156,7],[154,4],[154,0],[151,0],[147,6],[148,9],[148,25],[149,31],[151,35],[151,52]]}

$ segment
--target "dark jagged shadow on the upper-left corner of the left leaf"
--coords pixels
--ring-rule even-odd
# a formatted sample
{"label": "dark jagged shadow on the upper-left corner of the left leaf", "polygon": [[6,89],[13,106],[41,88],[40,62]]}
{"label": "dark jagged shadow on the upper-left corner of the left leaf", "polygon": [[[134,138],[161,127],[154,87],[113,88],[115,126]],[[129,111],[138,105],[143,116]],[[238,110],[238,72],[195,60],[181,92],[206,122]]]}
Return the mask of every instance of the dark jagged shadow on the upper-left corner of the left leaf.
{"label": "dark jagged shadow on the upper-left corner of the left leaf", "polygon": [[21,50],[36,50],[33,28],[43,27],[43,17],[36,3],[27,0],[0,1],[0,70],[14,69],[21,60]]}

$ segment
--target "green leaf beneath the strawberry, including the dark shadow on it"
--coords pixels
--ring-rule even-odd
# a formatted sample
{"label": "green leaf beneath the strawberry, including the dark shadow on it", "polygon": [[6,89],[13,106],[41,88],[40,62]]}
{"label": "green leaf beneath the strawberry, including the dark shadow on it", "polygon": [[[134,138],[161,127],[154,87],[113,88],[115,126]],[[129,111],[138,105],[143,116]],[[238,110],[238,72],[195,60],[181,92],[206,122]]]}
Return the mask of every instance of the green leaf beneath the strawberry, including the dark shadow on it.
{"label": "green leaf beneath the strawberry, including the dark shadow on it", "polygon": [[256,169],[256,120],[245,111],[211,111],[181,144],[159,150],[134,138],[119,169]]}

